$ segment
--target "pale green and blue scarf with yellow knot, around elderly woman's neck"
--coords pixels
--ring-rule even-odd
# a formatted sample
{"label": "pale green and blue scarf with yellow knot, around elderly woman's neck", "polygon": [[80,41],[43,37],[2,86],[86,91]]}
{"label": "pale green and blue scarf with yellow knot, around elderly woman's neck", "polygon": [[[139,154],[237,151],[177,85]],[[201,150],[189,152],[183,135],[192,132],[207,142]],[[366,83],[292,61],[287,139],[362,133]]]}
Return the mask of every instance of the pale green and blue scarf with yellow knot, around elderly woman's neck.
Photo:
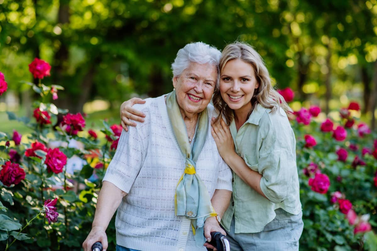
{"label": "pale green and blue scarf with yellow knot, around elderly woman's neck", "polygon": [[207,187],[196,173],[196,161],[202,151],[208,132],[208,111],[205,108],[198,116],[199,124],[195,141],[191,148],[184,120],[176,101],[175,90],[166,97],[166,108],[175,138],[183,156],[186,158],[185,169],[178,181],[175,193],[175,215],[191,219],[191,226],[197,246],[203,246],[204,222],[211,216],[216,216],[212,207]]}

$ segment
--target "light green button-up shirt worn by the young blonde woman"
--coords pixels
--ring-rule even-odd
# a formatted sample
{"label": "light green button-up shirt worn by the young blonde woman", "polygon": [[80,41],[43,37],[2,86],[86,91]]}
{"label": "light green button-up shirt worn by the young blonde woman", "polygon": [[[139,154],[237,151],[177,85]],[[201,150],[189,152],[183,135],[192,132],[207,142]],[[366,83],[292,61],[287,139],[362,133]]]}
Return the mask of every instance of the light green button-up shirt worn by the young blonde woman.
{"label": "light green button-up shirt worn by the young blonde woman", "polygon": [[235,233],[257,233],[275,218],[275,209],[292,214],[301,211],[296,139],[287,114],[279,109],[271,113],[258,104],[238,132],[234,120],[230,124],[237,154],[263,175],[260,185],[268,199],[233,172],[233,194],[221,221],[228,231],[233,216]]}

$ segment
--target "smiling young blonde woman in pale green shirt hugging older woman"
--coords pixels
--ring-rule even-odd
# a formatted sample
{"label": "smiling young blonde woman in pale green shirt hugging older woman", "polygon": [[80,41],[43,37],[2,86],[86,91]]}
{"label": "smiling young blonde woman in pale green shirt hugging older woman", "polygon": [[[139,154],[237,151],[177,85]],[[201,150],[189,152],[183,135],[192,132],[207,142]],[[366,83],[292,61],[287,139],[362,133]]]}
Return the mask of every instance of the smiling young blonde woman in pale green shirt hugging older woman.
{"label": "smiling young blonde woman in pale green shirt hugging older woman", "polygon": [[[250,45],[228,44],[219,68],[212,99],[219,116],[211,133],[233,170],[233,194],[221,219],[231,250],[298,250],[303,222],[291,109]],[[129,103],[121,110],[123,125],[132,125],[125,117],[142,115]]]}

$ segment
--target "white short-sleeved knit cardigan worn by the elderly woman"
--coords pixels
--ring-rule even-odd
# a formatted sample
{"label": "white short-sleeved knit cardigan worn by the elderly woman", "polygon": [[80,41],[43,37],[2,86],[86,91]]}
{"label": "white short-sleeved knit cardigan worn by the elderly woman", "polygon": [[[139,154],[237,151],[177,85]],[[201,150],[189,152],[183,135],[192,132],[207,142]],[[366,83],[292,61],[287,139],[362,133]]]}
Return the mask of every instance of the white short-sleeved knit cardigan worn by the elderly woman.
{"label": "white short-sleeved knit cardigan worn by the elderly woman", "polygon": [[[174,195],[184,170],[185,158],[174,137],[164,96],[146,99],[134,108],[146,114],[129,132],[122,131],[104,181],[128,193],[115,219],[116,243],[145,251],[195,251],[190,220],[175,216]],[[216,116],[208,105],[208,123]],[[232,174],[222,160],[208,126],[196,172],[212,198],[215,189],[232,190]]]}

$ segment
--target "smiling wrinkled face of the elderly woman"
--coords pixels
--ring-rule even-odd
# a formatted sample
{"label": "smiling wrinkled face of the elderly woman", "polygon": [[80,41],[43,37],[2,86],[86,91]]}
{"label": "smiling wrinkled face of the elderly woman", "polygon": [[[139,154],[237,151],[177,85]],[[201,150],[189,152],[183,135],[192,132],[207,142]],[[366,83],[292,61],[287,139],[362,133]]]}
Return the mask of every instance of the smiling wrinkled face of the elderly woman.
{"label": "smiling wrinkled face of the elderly woman", "polygon": [[216,80],[216,66],[191,62],[179,77],[173,78],[179,107],[185,113],[203,111],[211,101]]}

